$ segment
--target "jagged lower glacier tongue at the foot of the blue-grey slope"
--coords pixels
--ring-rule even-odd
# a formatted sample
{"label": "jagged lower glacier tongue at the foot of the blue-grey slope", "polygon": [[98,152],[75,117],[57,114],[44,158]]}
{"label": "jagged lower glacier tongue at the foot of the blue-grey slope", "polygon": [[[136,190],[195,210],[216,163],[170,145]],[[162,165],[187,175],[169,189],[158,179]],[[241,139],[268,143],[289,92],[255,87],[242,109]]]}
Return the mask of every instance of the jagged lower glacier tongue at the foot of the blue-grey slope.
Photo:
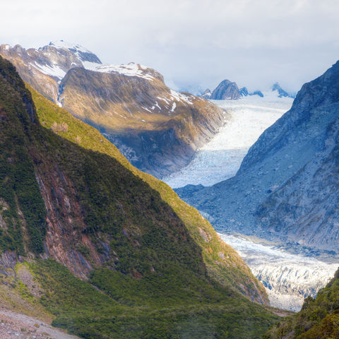
{"label": "jagged lower glacier tongue at the foot of the blue-grey slope", "polygon": [[304,256],[242,234],[219,234],[263,283],[273,307],[299,311],[304,298],[315,297],[333,277],[339,258]]}

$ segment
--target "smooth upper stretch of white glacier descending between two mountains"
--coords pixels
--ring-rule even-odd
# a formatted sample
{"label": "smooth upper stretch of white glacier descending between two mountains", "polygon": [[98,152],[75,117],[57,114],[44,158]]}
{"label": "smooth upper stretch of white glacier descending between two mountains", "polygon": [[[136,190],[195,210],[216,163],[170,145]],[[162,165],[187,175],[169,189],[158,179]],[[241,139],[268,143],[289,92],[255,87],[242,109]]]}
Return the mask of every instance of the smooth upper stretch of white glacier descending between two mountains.
{"label": "smooth upper stretch of white glacier descending between two mountains", "polygon": [[162,178],[172,188],[187,184],[212,186],[233,177],[247,150],[258,137],[290,109],[293,99],[278,93],[263,93],[239,100],[211,100],[227,110],[230,119],[214,138],[200,148],[193,159],[179,172]]}

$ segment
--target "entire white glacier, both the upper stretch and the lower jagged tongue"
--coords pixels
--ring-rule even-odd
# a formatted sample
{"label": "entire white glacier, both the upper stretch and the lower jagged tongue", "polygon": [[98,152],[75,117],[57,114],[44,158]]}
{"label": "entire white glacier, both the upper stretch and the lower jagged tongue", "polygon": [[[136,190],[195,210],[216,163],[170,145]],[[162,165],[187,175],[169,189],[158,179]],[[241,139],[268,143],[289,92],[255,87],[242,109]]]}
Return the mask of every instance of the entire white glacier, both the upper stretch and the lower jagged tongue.
{"label": "entire white glacier, both the upper stretch and the lower jagged tongue", "polygon": [[[265,93],[241,100],[215,100],[231,115],[230,121],[200,150],[188,166],[163,180],[178,188],[187,184],[211,186],[236,174],[247,150],[261,133],[279,119],[292,105],[291,98],[278,98]],[[339,266],[339,258],[328,262],[310,254],[293,254],[272,243],[244,237],[241,234],[220,234],[244,258],[256,278],[266,287],[271,305],[298,311],[304,297],[326,285]]]}

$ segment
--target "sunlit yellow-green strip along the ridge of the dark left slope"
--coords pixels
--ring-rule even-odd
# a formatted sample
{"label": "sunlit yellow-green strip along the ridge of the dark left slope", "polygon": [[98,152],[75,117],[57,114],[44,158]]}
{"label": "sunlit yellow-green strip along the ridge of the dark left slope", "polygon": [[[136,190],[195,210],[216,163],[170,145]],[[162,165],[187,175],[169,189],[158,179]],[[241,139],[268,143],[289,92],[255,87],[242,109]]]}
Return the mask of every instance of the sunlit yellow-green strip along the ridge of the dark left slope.
{"label": "sunlit yellow-green strip along the ridge of the dark left slope", "polygon": [[[27,85],[27,87],[32,93],[32,98],[37,107],[37,116],[42,126],[56,131],[63,138],[78,143],[87,150],[94,150],[114,157],[126,169],[129,169],[144,182],[147,182],[152,189],[160,193],[162,200],[173,208],[189,230],[191,237],[203,249],[203,261],[210,277],[222,285],[233,286],[256,302],[264,303],[268,301],[265,289],[254,278],[242,258],[231,246],[222,242],[208,220],[204,219],[195,208],[184,203],[164,182],[133,167],[126,160],[126,157],[121,155],[119,150],[107,141],[97,129],[76,119],[65,109],[52,104],[30,85]],[[64,126],[64,129],[62,126]]]}

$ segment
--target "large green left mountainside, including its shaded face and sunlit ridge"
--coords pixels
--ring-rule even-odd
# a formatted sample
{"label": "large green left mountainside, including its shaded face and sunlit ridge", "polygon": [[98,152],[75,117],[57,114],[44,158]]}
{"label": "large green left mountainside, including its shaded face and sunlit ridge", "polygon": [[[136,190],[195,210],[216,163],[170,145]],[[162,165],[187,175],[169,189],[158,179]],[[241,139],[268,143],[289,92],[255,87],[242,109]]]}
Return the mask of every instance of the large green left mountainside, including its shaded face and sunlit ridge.
{"label": "large green left mountainside, including its shaded face and sunlit ridge", "polygon": [[16,277],[13,295],[83,338],[260,338],[277,317],[237,292],[263,296],[208,222],[33,95],[42,126],[0,58],[0,246],[30,258],[34,281],[21,288]]}

